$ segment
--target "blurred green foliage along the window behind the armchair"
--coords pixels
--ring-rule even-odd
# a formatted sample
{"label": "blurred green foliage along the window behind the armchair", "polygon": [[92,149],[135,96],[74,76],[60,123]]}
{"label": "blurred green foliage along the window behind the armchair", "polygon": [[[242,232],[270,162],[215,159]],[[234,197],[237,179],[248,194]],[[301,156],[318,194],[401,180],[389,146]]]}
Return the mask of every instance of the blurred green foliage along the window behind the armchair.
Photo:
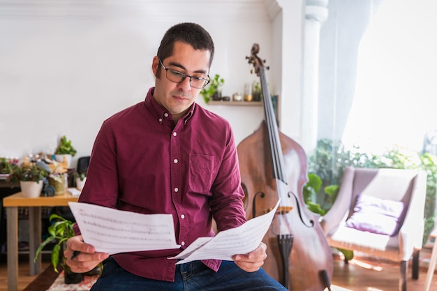
{"label": "blurred green foliage along the window behind the armchair", "polygon": [[[322,181],[322,185],[318,190],[314,188],[313,182],[308,186],[304,186],[304,191],[305,188],[309,188],[307,191],[312,191],[311,188],[313,188],[317,193],[311,195],[312,199],[307,203],[309,209],[316,213],[320,213],[320,209],[329,211],[335,196],[327,194],[328,191],[334,189],[327,189],[331,185],[338,186],[341,184],[341,178],[347,166],[424,170],[427,173],[427,201],[424,209],[423,244],[426,243],[434,228],[436,219],[434,210],[436,209],[437,195],[437,156],[411,151],[398,146],[387,149],[383,154],[376,155],[362,151],[359,147],[346,149],[341,142],[335,143],[328,139],[319,140],[316,151],[309,158],[309,173],[317,174]],[[321,189],[323,189],[323,192],[320,191]],[[331,200],[330,203],[327,203],[329,200]]]}

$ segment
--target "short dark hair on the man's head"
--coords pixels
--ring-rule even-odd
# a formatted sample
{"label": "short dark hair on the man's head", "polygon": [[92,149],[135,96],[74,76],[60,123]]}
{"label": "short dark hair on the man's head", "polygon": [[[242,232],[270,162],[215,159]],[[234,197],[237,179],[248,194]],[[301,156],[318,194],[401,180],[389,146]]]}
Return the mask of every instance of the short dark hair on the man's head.
{"label": "short dark hair on the man's head", "polygon": [[165,32],[156,55],[162,61],[170,57],[173,54],[173,47],[175,47],[175,42],[177,41],[191,45],[194,50],[208,50],[211,53],[209,57],[209,67],[211,67],[214,57],[214,42],[208,31],[203,27],[191,22],[179,23],[170,27]]}

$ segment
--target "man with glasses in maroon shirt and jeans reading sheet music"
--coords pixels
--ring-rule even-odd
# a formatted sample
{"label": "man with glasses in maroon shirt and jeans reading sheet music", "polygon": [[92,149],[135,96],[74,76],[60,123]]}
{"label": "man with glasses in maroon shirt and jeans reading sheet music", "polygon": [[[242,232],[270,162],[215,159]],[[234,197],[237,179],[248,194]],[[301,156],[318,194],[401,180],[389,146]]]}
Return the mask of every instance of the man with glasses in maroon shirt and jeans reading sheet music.
{"label": "man with glasses in maroon shirt and jeans reading sheet music", "polygon": [[[237,150],[225,119],[195,104],[209,82],[214,43],[198,24],[171,27],[151,68],[155,87],[144,102],[114,114],[99,131],[80,202],[142,214],[172,214],[177,244],[246,221]],[[75,272],[104,260],[92,290],[286,290],[260,269],[265,244],[233,261],[178,264],[182,249],[108,256],[82,242],[80,230],[64,255]],[[80,254],[71,259],[73,251]]]}

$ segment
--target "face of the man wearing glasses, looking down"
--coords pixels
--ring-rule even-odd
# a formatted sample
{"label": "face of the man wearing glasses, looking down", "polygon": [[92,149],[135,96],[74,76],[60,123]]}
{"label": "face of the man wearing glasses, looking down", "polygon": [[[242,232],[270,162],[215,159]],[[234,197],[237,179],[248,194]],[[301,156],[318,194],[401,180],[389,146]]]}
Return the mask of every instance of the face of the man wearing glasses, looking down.
{"label": "face of the man wearing glasses, looking down", "polygon": [[[210,52],[207,50],[194,50],[191,45],[176,42],[173,54],[162,63],[165,68],[175,70],[186,75],[207,78],[209,72]],[[190,78],[186,77],[182,82],[175,83],[166,77],[166,71],[161,66],[158,57],[154,57],[152,70],[156,75],[161,70],[159,77],[156,77],[154,98],[165,109],[167,109],[175,120],[182,117],[188,108],[194,103],[200,93],[198,88],[190,85]],[[170,71],[168,72],[170,74]]]}

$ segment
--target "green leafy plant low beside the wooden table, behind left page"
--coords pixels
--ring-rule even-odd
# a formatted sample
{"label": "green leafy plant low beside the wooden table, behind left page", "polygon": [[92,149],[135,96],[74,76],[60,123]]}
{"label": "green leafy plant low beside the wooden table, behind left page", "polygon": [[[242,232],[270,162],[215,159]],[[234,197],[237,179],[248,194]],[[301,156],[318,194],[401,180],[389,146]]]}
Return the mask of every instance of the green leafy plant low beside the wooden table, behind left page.
{"label": "green leafy plant low beside the wooden table, behind left page", "polygon": [[[47,237],[45,241],[43,241],[42,244],[38,247],[38,250],[36,250],[36,254],[34,257],[34,262],[38,260],[38,255],[41,251],[43,251],[43,248],[50,244],[52,241],[56,241],[56,244],[52,248],[52,256],[51,256],[51,262],[52,266],[54,268],[54,271],[57,273],[59,272],[57,269],[57,266],[59,264],[59,259],[61,255],[61,248],[63,248],[64,243],[71,238],[74,237],[75,233],[73,231],[73,221],[69,221],[68,219],[65,219],[57,214],[50,215],[49,220],[52,221],[56,219],[57,221],[54,222],[52,225],[49,226],[48,232],[50,234],[50,237]],[[62,261],[61,266],[64,268],[64,270],[68,270],[69,267],[65,262],[64,255],[62,255]]]}

